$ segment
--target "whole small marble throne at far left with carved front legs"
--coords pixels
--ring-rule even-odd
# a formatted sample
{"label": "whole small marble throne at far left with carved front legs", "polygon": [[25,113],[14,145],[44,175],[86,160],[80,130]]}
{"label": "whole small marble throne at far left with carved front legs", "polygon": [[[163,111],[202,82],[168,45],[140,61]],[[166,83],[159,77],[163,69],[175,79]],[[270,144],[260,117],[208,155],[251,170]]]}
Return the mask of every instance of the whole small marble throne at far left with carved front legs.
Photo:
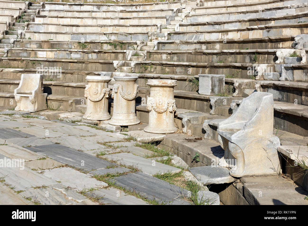
{"label": "whole small marble throne at far left with carved front legs", "polygon": [[47,93],[43,93],[43,75],[22,74],[18,88],[14,90],[15,111],[42,111],[47,109]]}

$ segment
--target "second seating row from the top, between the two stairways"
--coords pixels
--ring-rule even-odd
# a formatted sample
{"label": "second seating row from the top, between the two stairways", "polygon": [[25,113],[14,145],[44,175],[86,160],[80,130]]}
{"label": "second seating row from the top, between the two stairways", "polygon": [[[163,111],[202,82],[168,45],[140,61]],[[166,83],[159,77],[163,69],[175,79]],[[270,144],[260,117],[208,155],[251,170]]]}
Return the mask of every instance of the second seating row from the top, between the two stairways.
{"label": "second seating row from the top, between the two stairways", "polygon": [[[178,9],[152,10],[40,10],[40,17],[154,17],[157,15],[176,16]],[[39,15],[37,15],[39,17]]]}

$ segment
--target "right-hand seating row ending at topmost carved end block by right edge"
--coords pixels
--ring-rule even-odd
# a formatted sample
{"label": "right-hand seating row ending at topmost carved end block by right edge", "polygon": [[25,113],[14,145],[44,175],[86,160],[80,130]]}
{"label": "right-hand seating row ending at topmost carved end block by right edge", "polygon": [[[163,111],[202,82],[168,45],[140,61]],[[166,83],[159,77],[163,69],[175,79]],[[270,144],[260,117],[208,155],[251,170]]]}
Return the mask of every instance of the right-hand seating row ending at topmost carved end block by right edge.
{"label": "right-hand seating row ending at topmost carved end block by right edge", "polygon": [[156,50],[288,49],[295,36],[228,39],[157,41]]}

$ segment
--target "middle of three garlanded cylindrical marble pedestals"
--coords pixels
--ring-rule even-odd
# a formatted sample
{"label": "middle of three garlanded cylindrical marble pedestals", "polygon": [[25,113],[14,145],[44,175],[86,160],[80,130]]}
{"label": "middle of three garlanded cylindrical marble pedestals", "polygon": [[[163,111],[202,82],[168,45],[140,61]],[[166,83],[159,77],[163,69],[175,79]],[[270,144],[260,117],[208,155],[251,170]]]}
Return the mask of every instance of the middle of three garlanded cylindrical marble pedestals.
{"label": "middle of three garlanded cylindrical marble pedestals", "polygon": [[130,126],[140,123],[136,117],[136,95],[138,85],[137,76],[115,76],[115,84],[111,98],[113,98],[112,117],[108,121],[111,125]]}

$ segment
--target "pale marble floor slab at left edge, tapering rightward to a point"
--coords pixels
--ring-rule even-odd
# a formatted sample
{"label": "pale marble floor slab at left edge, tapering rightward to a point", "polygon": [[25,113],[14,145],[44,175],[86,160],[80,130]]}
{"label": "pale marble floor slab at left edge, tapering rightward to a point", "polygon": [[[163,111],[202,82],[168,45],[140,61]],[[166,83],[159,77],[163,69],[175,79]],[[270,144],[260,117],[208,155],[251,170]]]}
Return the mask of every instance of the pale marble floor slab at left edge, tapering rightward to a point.
{"label": "pale marble floor slab at left edge, tapering rightward to a point", "polygon": [[8,158],[24,159],[25,161],[35,160],[38,158],[45,157],[44,155],[40,153],[35,153],[31,150],[17,146],[15,144],[1,145],[0,153],[5,155]]}

